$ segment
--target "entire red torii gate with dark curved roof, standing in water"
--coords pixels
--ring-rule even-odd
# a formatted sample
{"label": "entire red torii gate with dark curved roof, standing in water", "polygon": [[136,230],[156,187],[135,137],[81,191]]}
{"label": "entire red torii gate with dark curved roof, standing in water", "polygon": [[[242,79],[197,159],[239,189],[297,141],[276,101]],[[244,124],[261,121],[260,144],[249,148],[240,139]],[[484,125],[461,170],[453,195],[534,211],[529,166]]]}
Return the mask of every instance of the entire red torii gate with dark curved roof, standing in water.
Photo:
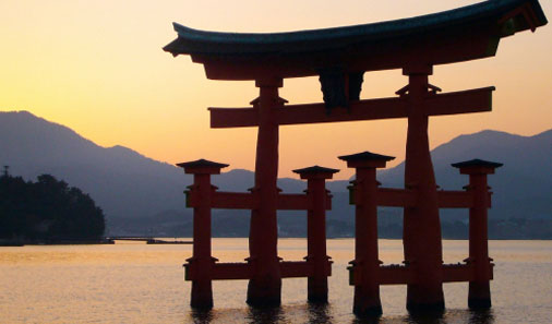
{"label": "entire red torii gate with dark curved roof, standing in water", "polygon": [[[194,175],[188,204],[194,208],[193,257],[185,265],[192,280],[192,307],[213,305],[214,279],[249,279],[248,303],[278,305],[281,278],[309,277],[309,299],[327,300],[324,214],[331,196],[324,180],[336,170],[296,170],[308,180],[304,195],[280,193],[278,128],[285,124],[407,118],[405,189],[379,189],[375,169],[392,157],[362,153],[340,157],[357,171],[351,189],[356,214],[353,312],[380,314],[380,285],[407,285],[407,309],[442,310],[443,283],[469,281],[469,305],[490,307],[492,264],[487,248],[487,175],[499,164],[471,160],[454,165],[470,176],[467,191],[439,191],[430,156],[430,116],[491,111],[493,86],[440,94],[429,83],[437,64],[493,57],[503,37],[547,24],[537,0],[490,0],[424,16],[349,27],[277,34],[194,31],[175,24],[178,38],[164,49],[190,55],[212,80],[252,80],[260,96],[248,108],[209,108],[212,128],[256,127],[255,183],[250,193],[217,192],[209,177],[227,165],[207,160],[180,164]],[[363,73],[401,69],[408,84],[396,97],[360,99]],[[320,76],[324,103],[287,105],[278,88],[287,77]],[[377,260],[376,207],[404,208],[403,266]],[[439,208],[470,208],[470,257],[444,265]],[[247,263],[217,263],[211,255],[211,208],[251,209],[250,257]],[[305,262],[277,255],[278,209],[309,211]],[[311,217],[312,216],[312,217]],[[312,232],[311,232],[312,231]],[[312,293],[311,293],[312,291]]]}

